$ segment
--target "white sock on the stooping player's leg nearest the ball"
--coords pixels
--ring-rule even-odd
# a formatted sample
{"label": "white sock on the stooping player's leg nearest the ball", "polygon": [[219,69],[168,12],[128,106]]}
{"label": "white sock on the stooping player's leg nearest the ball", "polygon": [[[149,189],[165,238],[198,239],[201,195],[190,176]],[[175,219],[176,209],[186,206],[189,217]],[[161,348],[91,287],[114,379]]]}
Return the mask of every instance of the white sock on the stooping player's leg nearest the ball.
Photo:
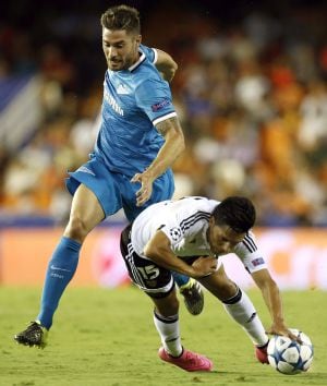
{"label": "white sock on the stooping player's leg nearest the ball", "polygon": [[223,301],[225,310],[239,323],[256,346],[264,346],[268,336],[247,294],[238,288],[234,297]]}

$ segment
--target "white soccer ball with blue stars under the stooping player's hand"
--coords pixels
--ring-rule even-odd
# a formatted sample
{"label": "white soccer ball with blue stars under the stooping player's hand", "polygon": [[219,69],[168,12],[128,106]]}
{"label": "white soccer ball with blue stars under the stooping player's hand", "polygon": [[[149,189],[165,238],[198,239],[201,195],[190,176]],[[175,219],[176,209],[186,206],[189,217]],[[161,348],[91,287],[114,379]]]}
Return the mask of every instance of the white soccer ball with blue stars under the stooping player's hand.
{"label": "white soccer ball with blue stars under the stooping player's hand", "polygon": [[269,364],[282,374],[294,375],[307,371],[313,361],[314,349],[307,335],[295,328],[290,331],[300,337],[302,345],[281,335],[269,340],[267,353]]}

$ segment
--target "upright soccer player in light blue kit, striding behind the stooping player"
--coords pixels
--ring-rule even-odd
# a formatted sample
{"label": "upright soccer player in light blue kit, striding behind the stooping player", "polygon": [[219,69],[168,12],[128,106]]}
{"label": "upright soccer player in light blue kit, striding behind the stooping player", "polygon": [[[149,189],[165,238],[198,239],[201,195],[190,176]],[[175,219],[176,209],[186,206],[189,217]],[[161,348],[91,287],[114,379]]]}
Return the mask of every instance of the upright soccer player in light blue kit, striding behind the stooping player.
{"label": "upright soccer player in light blue kit, striding behind the stooping player", "polygon": [[[25,346],[45,347],[86,236],[120,208],[132,221],[148,205],[170,198],[170,167],[184,149],[167,82],[177,64],[168,53],[141,45],[135,9],[112,7],[102,14],[101,25],[108,63],[101,126],[89,161],[66,181],[73,195],[70,219],[48,265],[39,314],[14,337]],[[178,274],[175,280],[189,311],[199,313],[203,295],[197,282]]]}

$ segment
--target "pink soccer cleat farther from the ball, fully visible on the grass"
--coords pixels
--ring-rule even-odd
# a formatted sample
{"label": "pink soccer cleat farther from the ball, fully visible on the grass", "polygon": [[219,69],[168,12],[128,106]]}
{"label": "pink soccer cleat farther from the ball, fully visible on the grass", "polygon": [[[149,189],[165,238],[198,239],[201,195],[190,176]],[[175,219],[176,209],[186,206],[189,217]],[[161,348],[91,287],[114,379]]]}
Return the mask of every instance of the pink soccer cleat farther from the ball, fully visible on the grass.
{"label": "pink soccer cleat farther from the ball, fully visible on the grass", "polygon": [[165,361],[174,364],[185,371],[210,371],[214,367],[214,364],[206,357],[201,355],[196,352],[187,351],[183,349],[183,353],[179,358],[174,358],[169,355],[164,349],[160,347],[158,351],[159,358]]}

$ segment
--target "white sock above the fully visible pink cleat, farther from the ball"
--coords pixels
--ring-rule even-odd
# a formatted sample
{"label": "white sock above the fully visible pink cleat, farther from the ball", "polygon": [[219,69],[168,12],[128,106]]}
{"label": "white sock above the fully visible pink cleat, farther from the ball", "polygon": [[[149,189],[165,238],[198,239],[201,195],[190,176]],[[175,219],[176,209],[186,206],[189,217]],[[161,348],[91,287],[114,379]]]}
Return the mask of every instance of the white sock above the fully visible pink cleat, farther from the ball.
{"label": "white sock above the fully visible pink cleat, farther from the ball", "polygon": [[155,326],[160,335],[164,349],[172,357],[179,357],[183,352],[179,315],[162,316],[154,312]]}

